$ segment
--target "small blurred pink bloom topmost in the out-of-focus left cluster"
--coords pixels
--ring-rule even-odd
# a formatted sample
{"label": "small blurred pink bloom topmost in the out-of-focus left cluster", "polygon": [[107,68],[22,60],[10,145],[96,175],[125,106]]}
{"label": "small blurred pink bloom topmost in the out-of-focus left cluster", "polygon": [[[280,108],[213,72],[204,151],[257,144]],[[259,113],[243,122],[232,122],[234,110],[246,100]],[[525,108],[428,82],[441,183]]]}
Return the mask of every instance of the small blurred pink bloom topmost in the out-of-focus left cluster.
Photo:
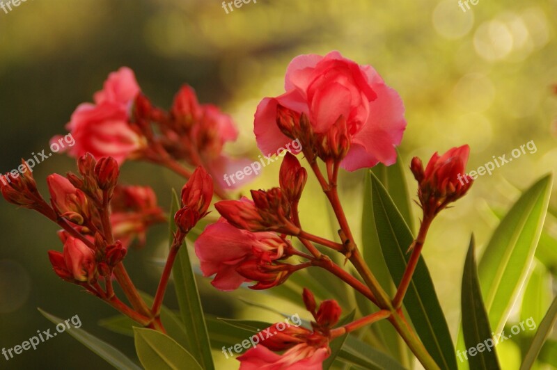
{"label": "small blurred pink bloom topmost in the out-of-focus left cluster", "polygon": [[128,67],[121,67],[116,72],[111,72],[107,81],[104,81],[102,90],[93,95],[95,104],[111,102],[122,104],[130,108],[136,96],[141,92],[135,79],[134,71]]}

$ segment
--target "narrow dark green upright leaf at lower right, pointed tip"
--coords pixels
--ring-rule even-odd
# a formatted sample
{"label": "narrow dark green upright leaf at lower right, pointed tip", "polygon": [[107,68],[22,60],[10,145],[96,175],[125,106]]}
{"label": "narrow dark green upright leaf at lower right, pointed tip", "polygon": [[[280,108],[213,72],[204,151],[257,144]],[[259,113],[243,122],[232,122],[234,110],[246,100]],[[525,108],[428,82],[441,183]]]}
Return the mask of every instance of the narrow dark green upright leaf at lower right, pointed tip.
{"label": "narrow dark green upright leaf at lower right, pointed tip", "polygon": [[[501,369],[495,353],[492,328],[489,326],[489,316],[487,316],[485,306],[483,305],[476,258],[474,257],[473,236],[470,240],[466,262],[464,262],[460,305],[462,307],[462,328],[466,348],[483,347],[483,351],[478,351],[476,355],[468,356],[470,369]],[[488,340],[491,342],[492,348],[487,347],[488,343],[486,342]]]}

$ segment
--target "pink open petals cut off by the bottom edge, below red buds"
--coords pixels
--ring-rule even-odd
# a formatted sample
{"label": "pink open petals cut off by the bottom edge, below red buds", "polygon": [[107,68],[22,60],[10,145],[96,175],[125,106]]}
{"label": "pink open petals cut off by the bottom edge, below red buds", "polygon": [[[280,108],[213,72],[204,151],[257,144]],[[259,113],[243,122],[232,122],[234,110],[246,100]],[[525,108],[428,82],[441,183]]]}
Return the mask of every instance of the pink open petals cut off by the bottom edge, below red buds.
{"label": "pink open petals cut off by the bottom edge, below red buds", "polygon": [[238,357],[240,370],[321,370],[331,350],[301,343],[279,355],[265,346],[249,349]]}

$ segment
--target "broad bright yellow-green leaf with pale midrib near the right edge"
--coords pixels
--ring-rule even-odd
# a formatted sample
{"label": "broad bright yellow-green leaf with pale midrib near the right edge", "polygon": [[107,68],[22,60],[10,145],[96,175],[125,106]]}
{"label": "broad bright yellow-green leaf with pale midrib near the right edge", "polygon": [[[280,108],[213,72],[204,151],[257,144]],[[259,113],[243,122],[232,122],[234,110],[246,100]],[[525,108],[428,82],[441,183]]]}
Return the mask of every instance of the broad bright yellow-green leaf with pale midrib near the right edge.
{"label": "broad bright yellow-green leaf with pale midrib near the right edge", "polygon": [[501,220],[480,261],[478,272],[489,323],[501,332],[528,276],[544,225],[551,175],[525,191]]}

